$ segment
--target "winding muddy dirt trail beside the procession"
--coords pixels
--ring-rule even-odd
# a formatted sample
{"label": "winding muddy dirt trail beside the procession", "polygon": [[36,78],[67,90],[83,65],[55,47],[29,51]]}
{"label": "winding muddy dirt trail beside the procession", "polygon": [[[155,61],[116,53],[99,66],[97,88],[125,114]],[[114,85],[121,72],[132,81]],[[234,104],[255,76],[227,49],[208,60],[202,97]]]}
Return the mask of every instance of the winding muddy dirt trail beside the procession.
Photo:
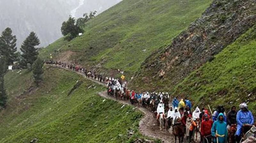
{"label": "winding muddy dirt trail beside the procession", "polygon": [[[55,65],[52,65],[52,66],[70,71],[67,68],[62,68],[62,67],[55,66]],[[75,71],[72,71],[72,72],[75,72]],[[79,75],[82,75],[85,79],[91,80],[97,84],[107,87],[107,84],[105,84],[105,83],[99,82],[99,81],[91,79],[91,78],[87,78],[84,74],[82,74],[80,72],[76,72],[76,73]],[[98,95],[100,95],[103,98],[107,98],[107,99],[111,99],[111,100],[120,102],[122,104],[134,106],[137,109],[139,109],[141,112],[143,112],[144,116],[140,120],[139,129],[140,129],[140,132],[144,136],[161,139],[163,143],[173,143],[174,142],[174,136],[172,134],[168,133],[165,129],[160,131],[159,127],[157,126],[155,115],[152,112],[150,112],[148,109],[132,105],[130,103],[130,101],[124,101],[124,100],[118,100],[118,99],[116,100],[116,98],[108,96],[107,91],[99,92]]]}

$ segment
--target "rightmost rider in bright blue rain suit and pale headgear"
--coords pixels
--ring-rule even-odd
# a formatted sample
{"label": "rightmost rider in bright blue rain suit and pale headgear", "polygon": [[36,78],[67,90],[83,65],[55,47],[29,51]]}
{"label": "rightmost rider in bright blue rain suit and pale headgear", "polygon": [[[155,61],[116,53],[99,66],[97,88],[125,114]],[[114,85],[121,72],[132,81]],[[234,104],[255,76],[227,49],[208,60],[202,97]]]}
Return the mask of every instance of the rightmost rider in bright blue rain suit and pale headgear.
{"label": "rightmost rider in bright blue rain suit and pale headgear", "polygon": [[252,112],[249,111],[247,104],[242,103],[240,104],[240,110],[237,112],[236,115],[236,122],[237,122],[237,130],[236,130],[236,140],[240,140],[239,136],[241,134],[241,130],[244,124],[253,124],[254,118],[252,116]]}

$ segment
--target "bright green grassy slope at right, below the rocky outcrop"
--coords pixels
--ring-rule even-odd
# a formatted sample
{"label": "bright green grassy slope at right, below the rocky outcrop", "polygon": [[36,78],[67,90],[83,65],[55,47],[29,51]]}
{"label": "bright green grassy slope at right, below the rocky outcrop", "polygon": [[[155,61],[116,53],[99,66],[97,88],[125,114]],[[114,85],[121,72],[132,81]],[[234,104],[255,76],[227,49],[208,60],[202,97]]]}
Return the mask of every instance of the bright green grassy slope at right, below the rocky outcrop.
{"label": "bright green grassy slope at right, below the rocky outcrop", "polygon": [[230,107],[248,102],[256,115],[256,25],[229,45],[212,62],[178,84],[174,96],[186,96],[195,105]]}

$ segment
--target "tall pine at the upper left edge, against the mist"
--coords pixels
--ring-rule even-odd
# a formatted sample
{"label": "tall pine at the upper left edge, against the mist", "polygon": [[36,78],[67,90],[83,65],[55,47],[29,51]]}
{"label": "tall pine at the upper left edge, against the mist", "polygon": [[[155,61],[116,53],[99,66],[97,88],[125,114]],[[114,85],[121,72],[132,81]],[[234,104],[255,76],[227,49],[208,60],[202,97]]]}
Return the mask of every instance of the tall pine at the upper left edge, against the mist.
{"label": "tall pine at the upper left edge, against the mist", "polygon": [[16,60],[17,51],[16,47],[16,36],[12,35],[12,29],[6,28],[0,37],[0,56],[6,59],[6,64],[10,65]]}

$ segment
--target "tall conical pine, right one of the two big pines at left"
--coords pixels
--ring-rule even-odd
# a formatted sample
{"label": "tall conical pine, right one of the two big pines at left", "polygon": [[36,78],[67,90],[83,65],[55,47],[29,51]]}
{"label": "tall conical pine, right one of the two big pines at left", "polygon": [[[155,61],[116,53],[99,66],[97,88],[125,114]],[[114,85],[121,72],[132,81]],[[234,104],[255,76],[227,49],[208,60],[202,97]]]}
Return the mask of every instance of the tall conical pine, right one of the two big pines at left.
{"label": "tall conical pine, right one of the two big pines at left", "polygon": [[21,57],[24,64],[32,65],[36,61],[38,55],[36,46],[39,44],[40,41],[34,32],[31,32],[25,41],[23,41],[20,50],[23,52]]}

